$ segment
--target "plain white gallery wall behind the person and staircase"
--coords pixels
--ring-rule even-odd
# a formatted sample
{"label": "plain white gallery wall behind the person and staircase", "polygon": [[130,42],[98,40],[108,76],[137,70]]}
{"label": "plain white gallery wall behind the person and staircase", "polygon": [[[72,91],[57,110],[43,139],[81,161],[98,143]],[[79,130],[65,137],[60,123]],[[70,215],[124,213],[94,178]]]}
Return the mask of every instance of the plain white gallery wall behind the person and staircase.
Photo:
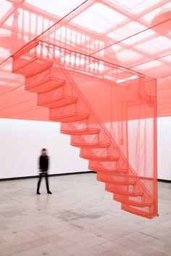
{"label": "plain white gallery wall behind the person and staircase", "polygon": [[[159,117],[157,123],[158,178],[171,180],[171,117]],[[0,131],[0,178],[36,176],[42,147],[51,159],[49,173],[88,170],[70,136],[59,133],[59,123],[0,119]]]}

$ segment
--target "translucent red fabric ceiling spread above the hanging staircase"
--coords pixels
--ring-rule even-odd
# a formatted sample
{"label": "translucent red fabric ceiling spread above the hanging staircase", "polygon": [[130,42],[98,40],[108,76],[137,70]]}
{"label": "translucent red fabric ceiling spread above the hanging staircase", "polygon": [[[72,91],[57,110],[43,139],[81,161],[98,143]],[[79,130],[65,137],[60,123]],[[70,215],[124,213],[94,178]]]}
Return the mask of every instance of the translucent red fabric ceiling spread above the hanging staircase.
{"label": "translucent red fabric ceiling spread above the hanging staircase", "polygon": [[[151,78],[170,76],[170,8],[170,1],[167,0],[65,0],[62,4],[61,1],[54,0],[15,2],[2,0],[0,2],[0,99],[4,91],[7,96],[8,91],[11,94],[11,89],[13,95],[15,90],[16,94],[20,90],[23,98],[18,97],[18,102],[15,101],[19,106],[23,102],[22,99],[25,99],[24,94],[28,94],[18,88],[24,83],[22,76],[12,75],[12,62],[10,59],[8,62],[5,60],[37,36],[41,41],[96,57],[111,64],[128,67]],[[159,88],[159,91],[161,90],[162,88]],[[164,94],[168,98],[167,91],[164,91],[163,87],[162,97]],[[164,102],[162,112],[160,112],[162,101],[160,100],[158,104],[158,116],[170,115],[170,104]],[[13,102],[10,102],[9,110],[12,105]],[[31,102],[30,107],[32,107],[30,113],[37,108],[35,104],[31,105]],[[8,117],[7,105],[4,106],[2,99],[0,108],[1,117]],[[44,109],[41,111],[46,112]],[[33,118],[33,115],[29,115],[30,118]],[[45,115],[43,120],[46,120],[46,114],[43,115]],[[14,117],[15,114],[12,116]]]}

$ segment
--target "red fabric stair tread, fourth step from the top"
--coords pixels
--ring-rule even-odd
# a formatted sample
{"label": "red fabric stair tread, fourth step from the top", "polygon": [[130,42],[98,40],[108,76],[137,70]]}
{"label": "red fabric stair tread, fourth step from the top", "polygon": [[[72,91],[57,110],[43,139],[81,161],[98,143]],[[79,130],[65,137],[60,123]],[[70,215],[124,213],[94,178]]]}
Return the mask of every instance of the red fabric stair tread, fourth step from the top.
{"label": "red fabric stair tread, fourth step from the top", "polygon": [[70,122],[85,120],[88,117],[89,117],[88,114],[74,113],[70,115],[63,115],[60,117],[49,117],[49,119],[56,122],[70,123]]}

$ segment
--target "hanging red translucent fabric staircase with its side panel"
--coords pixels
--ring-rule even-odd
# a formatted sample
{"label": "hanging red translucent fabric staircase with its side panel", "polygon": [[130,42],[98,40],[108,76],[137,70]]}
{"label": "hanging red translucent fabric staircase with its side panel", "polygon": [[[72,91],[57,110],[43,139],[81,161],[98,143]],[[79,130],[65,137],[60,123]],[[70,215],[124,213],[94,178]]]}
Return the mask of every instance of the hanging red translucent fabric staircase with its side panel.
{"label": "hanging red translucent fabric staircase with its side panel", "polygon": [[41,41],[14,54],[12,71],[122,210],[157,216],[156,80]]}

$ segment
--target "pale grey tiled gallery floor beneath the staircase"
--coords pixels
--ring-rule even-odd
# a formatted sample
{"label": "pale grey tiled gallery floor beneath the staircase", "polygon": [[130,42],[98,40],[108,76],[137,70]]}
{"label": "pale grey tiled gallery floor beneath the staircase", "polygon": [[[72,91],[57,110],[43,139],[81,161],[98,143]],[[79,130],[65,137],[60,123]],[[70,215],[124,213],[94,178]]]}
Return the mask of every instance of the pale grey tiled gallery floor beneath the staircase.
{"label": "pale grey tiled gallery floor beneath the staircase", "polygon": [[159,217],[120,210],[96,175],[0,182],[0,256],[171,255],[171,183],[159,182]]}

